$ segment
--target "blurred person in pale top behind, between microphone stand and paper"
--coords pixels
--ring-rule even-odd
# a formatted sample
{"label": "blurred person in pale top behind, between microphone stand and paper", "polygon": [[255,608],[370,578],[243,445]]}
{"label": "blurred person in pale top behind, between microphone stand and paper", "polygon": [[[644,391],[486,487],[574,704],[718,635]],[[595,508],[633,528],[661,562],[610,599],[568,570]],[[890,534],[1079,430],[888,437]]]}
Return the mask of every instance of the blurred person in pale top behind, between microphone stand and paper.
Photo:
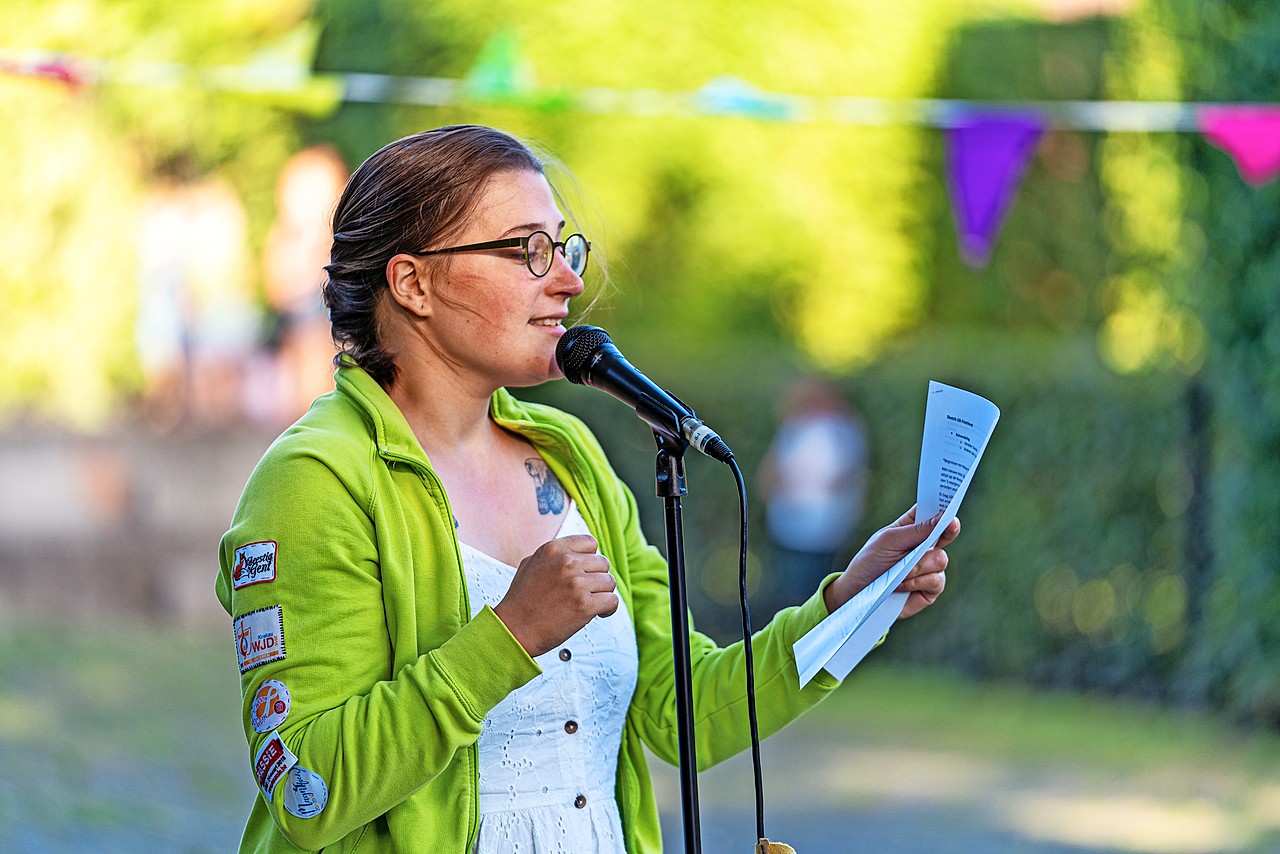
{"label": "blurred person in pale top behind, between microphone stand and paper", "polygon": [[836,388],[806,376],[787,393],[760,467],[769,611],[803,602],[832,571],[861,520],[867,457],[867,430]]}

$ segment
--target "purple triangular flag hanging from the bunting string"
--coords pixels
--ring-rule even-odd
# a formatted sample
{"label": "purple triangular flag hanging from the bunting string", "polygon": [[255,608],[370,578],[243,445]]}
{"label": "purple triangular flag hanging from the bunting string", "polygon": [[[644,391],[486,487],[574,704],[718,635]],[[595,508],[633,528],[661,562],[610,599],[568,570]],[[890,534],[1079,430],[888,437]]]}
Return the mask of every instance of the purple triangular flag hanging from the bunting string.
{"label": "purple triangular flag hanging from the bunting string", "polygon": [[986,266],[1047,122],[1029,110],[965,111],[946,131],[947,188],[960,255]]}

